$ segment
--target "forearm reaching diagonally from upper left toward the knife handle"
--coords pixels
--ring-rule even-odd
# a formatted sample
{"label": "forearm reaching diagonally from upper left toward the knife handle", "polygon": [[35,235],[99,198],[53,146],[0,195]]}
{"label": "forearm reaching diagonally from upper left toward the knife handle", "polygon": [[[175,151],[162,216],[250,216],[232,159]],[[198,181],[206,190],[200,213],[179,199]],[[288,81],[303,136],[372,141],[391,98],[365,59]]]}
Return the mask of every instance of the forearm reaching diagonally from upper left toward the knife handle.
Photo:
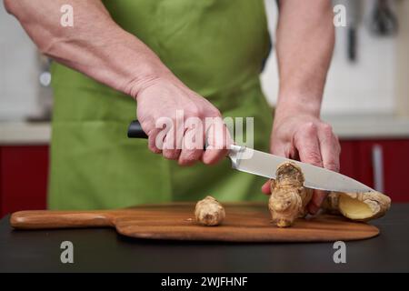
{"label": "forearm reaching diagonally from upper left toward the knife handle", "polygon": [[[74,7],[74,27],[60,25],[60,7]],[[99,0],[6,0],[40,51],[127,95],[171,73],[144,43],[116,25]]]}

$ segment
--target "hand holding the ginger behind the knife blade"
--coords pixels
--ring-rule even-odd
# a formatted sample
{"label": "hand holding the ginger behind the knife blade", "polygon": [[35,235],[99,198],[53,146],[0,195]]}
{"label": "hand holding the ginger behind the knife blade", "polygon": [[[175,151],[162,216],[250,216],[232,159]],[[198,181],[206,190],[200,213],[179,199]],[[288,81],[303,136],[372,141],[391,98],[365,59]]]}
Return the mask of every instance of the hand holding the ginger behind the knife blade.
{"label": "hand holding the ginger behind the knife blade", "polygon": [[[331,125],[318,117],[291,112],[276,115],[271,135],[272,154],[338,172],[340,152],[341,146]],[[262,190],[270,194],[270,183],[265,183]],[[314,196],[307,206],[311,214],[318,211],[325,196],[324,191],[314,190]]]}

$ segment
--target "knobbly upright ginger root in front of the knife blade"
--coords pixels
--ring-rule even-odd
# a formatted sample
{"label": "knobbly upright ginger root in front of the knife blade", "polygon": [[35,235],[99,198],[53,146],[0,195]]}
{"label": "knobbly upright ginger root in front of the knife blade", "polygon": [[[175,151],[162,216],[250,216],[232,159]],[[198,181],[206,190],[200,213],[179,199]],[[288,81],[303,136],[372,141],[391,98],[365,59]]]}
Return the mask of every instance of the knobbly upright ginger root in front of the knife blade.
{"label": "knobbly upright ginger root in front of the knife blade", "polygon": [[271,180],[268,208],[276,226],[292,226],[296,218],[306,215],[305,206],[313,191],[303,186],[303,172],[294,163],[284,162],[278,166],[275,177],[275,181]]}

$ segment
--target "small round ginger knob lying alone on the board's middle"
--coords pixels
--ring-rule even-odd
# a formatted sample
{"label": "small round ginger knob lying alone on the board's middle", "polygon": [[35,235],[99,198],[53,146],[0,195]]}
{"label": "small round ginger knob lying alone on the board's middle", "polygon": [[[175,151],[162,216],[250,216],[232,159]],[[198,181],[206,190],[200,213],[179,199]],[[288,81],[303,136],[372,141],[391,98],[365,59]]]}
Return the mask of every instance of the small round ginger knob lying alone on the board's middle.
{"label": "small round ginger knob lying alone on the board's middle", "polygon": [[224,217],[224,207],[212,196],[206,196],[195,206],[196,222],[203,226],[218,226]]}

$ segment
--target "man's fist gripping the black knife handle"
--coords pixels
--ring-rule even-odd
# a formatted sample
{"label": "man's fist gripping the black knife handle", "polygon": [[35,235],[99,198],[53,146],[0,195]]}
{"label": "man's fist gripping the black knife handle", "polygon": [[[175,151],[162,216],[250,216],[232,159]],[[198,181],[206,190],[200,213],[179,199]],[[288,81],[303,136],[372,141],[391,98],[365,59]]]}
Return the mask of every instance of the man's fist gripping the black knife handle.
{"label": "man's fist gripping the black knife handle", "polygon": [[[152,152],[162,154],[167,159],[178,160],[181,166],[193,165],[198,160],[212,165],[227,154],[227,146],[231,141],[219,110],[204,97],[190,90],[175,75],[169,74],[146,81],[140,86],[136,101],[137,117],[148,135],[149,149]],[[176,115],[177,111],[183,112],[183,120]],[[163,128],[156,127],[156,121],[163,117],[172,120],[173,132],[168,131],[165,134]],[[195,117],[200,119],[202,128],[186,125],[188,118]],[[223,130],[213,130],[209,125],[205,126],[206,117],[215,117],[213,120],[218,124],[210,127]],[[176,125],[179,128],[176,128]],[[181,134],[175,134],[176,130]],[[200,132],[193,132],[197,130]],[[192,143],[192,136],[195,134],[202,136],[203,143],[199,146]],[[206,150],[203,149],[205,144]]]}

